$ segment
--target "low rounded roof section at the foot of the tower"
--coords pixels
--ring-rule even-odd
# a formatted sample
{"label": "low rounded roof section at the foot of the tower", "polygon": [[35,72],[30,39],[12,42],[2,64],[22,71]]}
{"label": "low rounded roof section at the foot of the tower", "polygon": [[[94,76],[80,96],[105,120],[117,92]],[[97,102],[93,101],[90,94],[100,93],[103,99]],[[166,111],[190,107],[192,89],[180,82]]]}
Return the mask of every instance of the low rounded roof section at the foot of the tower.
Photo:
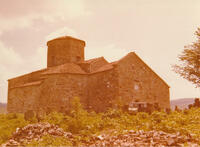
{"label": "low rounded roof section at the foot of the tower", "polygon": [[73,73],[73,74],[85,74],[86,72],[81,69],[80,66],[74,63],[65,63],[62,65],[49,67],[42,74],[57,74],[57,73]]}

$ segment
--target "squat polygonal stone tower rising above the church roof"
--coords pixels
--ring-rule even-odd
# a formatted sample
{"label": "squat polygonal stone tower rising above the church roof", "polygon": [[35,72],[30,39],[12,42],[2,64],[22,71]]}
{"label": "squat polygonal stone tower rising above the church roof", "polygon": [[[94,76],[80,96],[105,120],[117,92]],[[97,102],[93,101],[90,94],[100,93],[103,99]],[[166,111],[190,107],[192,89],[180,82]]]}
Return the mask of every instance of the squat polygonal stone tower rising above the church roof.
{"label": "squat polygonal stone tower rising above the church roof", "polygon": [[47,67],[84,61],[85,41],[70,36],[47,42]]}

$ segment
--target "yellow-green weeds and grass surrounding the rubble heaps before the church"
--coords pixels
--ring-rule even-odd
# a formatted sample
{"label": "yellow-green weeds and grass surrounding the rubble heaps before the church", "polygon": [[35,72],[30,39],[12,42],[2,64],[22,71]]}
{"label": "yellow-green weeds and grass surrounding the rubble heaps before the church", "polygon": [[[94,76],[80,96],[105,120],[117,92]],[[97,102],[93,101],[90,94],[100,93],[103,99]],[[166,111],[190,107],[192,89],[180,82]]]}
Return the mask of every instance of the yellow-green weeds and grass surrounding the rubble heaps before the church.
{"label": "yellow-green weeds and grass surrounding the rubble heaps before the church", "polygon": [[[152,114],[140,112],[136,115],[123,112],[121,109],[109,109],[105,113],[87,112],[80,105],[78,99],[74,99],[74,108],[69,115],[53,112],[42,120],[56,124],[67,132],[75,135],[73,145],[81,142],[89,142],[94,134],[114,130],[122,133],[124,130],[160,130],[168,133],[193,134],[200,138],[200,108],[192,108],[184,111],[165,112],[155,111]],[[5,142],[16,130],[35,121],[25,121],[21,114],[0,115],[0,144]],[[42,141],[33,141],[32,146],[66,145],[71,142],[64,138],[44,136]]]}

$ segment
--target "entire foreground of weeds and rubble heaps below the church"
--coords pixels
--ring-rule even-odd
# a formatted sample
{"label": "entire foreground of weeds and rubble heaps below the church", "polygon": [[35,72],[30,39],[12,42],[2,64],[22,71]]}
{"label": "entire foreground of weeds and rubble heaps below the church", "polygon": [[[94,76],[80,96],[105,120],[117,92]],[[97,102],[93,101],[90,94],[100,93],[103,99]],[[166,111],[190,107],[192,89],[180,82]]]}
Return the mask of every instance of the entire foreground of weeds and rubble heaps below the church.
{"label": "entire foreground of weeds and rubble heaps below the church", "polygon": [[120,109],[87,112],[80,103],[67,114],[24,119],[0,114],[0,146],[199,146],[200,109],[139,112]]}

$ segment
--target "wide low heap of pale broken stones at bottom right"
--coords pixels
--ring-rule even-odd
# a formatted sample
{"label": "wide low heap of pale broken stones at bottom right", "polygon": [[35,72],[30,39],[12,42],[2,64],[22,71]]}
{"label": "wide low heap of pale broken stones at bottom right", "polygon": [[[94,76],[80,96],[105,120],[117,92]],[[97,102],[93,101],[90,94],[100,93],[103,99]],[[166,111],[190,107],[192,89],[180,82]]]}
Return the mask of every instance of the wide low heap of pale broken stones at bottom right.
{"label": "wide low heap of pale broken stones at bottom right", "polygon": [[130,130],[126,134],[117,136],[106,136],[103,139],[96,137],[96,142],[89,146],[184,146],[187,143],[189,146],[199,146],[198,140],[195,140],[191,135],[183,136],[180,132],[169,134],[163,131],[134,131]]}

